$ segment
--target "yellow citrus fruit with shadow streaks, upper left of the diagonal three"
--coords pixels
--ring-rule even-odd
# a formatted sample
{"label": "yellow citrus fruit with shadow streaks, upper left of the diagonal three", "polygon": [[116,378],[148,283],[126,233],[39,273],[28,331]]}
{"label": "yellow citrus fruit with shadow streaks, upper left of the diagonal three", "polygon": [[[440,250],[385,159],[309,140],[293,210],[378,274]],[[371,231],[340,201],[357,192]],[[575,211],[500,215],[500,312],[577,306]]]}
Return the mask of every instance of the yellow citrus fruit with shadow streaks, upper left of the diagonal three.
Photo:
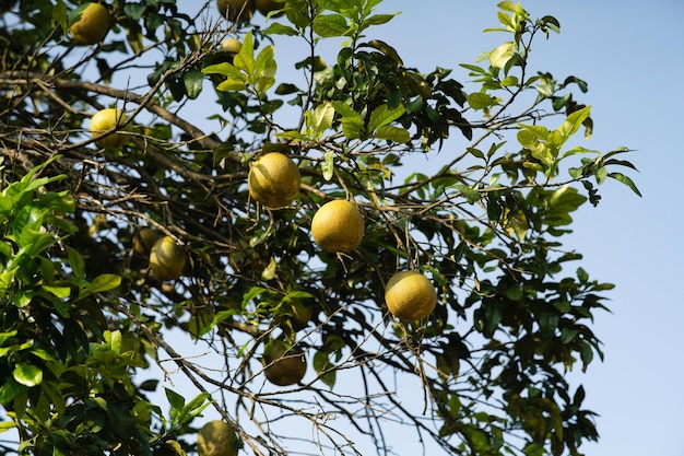
{"label": "yellow citrus fruit with shadow streaks, upper left of the diagonal three", "polygon": [[272,209],[290,204],[299,192],[299,168],[286,155],[271,152],[257,160],[249,169],[249,195]]}

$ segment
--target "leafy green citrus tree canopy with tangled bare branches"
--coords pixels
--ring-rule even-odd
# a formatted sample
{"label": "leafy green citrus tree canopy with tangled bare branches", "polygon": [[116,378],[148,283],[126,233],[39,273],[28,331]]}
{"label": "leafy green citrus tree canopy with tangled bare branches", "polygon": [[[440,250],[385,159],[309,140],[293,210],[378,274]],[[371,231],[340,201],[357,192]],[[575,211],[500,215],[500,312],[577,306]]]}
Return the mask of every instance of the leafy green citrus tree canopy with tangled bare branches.
{"label": "leafy green citrus tree canopy with tangled bare branches", "polygon": [[[598,439],[566,374],[613,285],[564,236],[606,179],[639,191],[627,148],[577,145],[587,83],[534,60],[556,17],[503,1],[498,46],[416,69],[374,36],[392,2],[101,3],[1,10],[3,454],[196,454],[210,417],[255,455]],[[427,316],[388,312],[399,271]]]}

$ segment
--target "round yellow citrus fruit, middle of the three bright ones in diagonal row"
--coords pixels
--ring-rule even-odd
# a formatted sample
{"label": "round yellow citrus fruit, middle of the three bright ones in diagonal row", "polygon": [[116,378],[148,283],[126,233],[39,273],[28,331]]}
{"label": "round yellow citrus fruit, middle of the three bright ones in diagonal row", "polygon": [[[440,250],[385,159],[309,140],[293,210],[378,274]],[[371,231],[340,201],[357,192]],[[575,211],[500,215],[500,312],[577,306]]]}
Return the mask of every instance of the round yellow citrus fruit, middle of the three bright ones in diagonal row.
{"label": "round yellow citrus fruit, middle of the three bright ones in diagonal row", "polygon": [[364,238],[364,218],[350,201],[330,201],[314,214],[311,235],[323,250],[350,252]]}

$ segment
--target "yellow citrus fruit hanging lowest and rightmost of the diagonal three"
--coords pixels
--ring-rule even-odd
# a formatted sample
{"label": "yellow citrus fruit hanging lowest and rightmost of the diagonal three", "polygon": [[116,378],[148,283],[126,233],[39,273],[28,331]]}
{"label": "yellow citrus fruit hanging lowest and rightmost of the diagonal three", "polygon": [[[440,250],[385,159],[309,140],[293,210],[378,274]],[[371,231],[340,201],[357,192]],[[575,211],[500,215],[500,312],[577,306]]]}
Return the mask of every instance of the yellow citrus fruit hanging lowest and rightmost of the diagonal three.
{"label": "yellow citrus fruit hanging lowest and rightmost of the diagonal three", "polygon": [[387,282],[385,302],[397,318],[415,321],[433,312],[437,304],[437,293],[433,283],[421,272],[401,271]]}

